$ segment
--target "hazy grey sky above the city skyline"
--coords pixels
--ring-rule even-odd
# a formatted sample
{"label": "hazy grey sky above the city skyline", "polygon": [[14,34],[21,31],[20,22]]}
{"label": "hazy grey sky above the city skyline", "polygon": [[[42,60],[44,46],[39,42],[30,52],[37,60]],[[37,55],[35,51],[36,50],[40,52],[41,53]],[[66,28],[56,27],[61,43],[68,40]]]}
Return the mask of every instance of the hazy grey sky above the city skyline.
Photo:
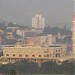
{"label": "hazy grey sky above the city skyline", "polygon": [[46,24],[71,22],[74,12],[73,0],[0,0],[0,19],[31,25],[35,14],[42,14]]}

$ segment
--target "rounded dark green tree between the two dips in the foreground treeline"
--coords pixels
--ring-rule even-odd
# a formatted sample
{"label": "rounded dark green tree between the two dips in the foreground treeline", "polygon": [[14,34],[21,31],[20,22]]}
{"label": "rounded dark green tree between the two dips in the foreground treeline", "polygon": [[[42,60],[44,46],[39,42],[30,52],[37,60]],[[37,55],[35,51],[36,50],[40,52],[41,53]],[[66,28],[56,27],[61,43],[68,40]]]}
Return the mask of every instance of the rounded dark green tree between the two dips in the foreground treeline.
{"label": "rounded dark green tree between the two dips in the foreground treeline", "polygon": [[58,73],[59,69],[58,69],[58,65],[55,62],[47,61],[45,63],[42,63],[41,70],[42,73],[45,74],[56,74]]}

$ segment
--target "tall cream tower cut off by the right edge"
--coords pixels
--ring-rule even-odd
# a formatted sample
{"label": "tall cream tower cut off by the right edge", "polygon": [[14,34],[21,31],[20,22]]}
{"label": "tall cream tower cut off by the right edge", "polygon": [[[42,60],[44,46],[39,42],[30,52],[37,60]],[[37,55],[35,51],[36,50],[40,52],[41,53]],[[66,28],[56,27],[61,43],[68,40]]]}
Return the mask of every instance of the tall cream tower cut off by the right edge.
{"label": "tall cream tower cut off by the right edge", "polygon": [[75,15],[72,20],[72,49],[73,49],[73,58],[75,59]]}

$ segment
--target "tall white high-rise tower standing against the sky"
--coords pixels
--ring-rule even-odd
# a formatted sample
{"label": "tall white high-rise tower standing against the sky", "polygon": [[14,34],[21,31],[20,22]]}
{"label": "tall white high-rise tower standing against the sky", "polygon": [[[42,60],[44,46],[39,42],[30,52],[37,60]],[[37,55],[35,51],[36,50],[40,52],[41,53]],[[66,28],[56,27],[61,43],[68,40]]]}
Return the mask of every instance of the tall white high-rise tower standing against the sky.
{"label": "tall white high-rise tower standing against the sky", "polygon": [[45,18],[42,15],[35,15],[32,18],[32,28],[43,29],[45,27]]}

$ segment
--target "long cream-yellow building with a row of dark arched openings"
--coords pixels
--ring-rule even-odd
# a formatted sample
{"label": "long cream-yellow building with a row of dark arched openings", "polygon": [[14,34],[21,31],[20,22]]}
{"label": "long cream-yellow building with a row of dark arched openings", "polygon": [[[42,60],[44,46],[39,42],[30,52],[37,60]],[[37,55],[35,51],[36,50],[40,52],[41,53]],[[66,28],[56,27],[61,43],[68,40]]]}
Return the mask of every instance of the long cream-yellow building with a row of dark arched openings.
{"label": "long cream-yellow building with a row of dark arched openings", "polygon": [[65,45],[51,45],[49,47],[35,46],[27,44],[26,46],[6,46],[3,48],[1,60],[6,63],[14,63],[20,60],[28,60],[42,63],[49,60],[63,61],[66,56]]}

